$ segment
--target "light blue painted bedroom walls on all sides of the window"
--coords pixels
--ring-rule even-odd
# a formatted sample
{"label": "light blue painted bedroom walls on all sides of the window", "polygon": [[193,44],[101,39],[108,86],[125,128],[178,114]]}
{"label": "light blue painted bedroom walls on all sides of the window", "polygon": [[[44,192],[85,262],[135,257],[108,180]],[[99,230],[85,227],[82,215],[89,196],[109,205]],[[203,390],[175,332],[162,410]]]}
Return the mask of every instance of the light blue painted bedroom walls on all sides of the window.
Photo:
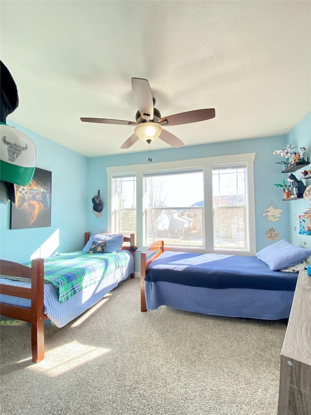
{"label": "light blue painted bedroom walls on all sides of the window", "polygon": [[[8,122],[9,123],[9,122]],[[9,123],[15,125],[14,123]],[[265,232],[274,227],[278,230],[279,239],[287,239],[311,247],[311,237],[302,237],[294,232],[297,217],[303,213],[308,202],[304,199],[282,201],[281,189],[274,186],[284,179],[282,166],[276,164],[281,159],[274,156],[273,151],[281,149],[288,143],[304,145],[311,158],[311,113],[295,126],[287,136],[255,138],[249,140],[229,141],[226,143],[204,144],[178,149],[167,148],[153,151],[153,162],[170,162],[202,157],[214,157],[230,154],[255,152],[255,225],[256,249],[273,243]],[[52,171],[52,226],[22,230],[9,229],[10,207],[0,204],[0,257],[24,262],[41,247],[41,253],[69,252],[81,249],[86,231],[109,231],[107,229],[107,166],[133,165],[146,163],[148,151],[125,153],[118,156],[107,156],[87,159],[86,157],[56,144],[22,126],[15,125],[28,135],[38,149],[37,167]],[[298,171],[301,175],[301,171]],[[299,177],[299,175],[297,175]],[[311,180],[306,180],[306,184]],[[103,216],[95,217],[92,213],[91,198],[100,190],[105,206]],[[274,202],[277,208],[283,209],[277,222],[268,222],[263,211]],[[289,225],[290,223],[290,225]],[[18,248],[17,248],[18,247]],[[137,255],[138,258],[138,255]],[[138,261],[137,261],[138,264]]]}

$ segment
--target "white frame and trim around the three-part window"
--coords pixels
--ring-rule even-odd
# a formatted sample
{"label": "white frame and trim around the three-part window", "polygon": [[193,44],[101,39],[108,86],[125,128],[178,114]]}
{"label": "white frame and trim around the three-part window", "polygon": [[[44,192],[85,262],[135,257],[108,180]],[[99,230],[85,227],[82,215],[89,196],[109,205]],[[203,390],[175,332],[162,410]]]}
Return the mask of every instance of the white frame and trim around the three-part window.
{"label": "white frame and trim around the three-part window", "polygon": [[[192,160],[180,160],[173,162],[158,162],[158,163],[146,163],[128,166],[114,166],[106,167],[107,172],[107,225],[111,231],[111,180],[113,174],[133,174],[136,176],[136,209],[137,209],[137,247],[139,251],[144,251],[147,246],[143,245],[143,227],[145,220],[144,212],[144,194],[143,194],[143,173],[154,172],[159,170],[172,171],[173,169],[182,168],[197,168],[203,167],[204,169],[204,218],[203,218],[203,245],[204,248],[191,248],[187,247],[189,252],[208,252],[208,253],[219,253],[219,249],[214,250],[213,243],[213,206],[212,206],[212,167],[217,164],[235,164],[235,163],[246,163],[247,166],[247,193],[248,193],[248,238],[249,248],[246,251],[228,249],[222,250],[222,253],[238,253],[239,255],[255,255],[256,253],[256,234],[255,234],[255,193],[254,193],[254,161],[256,153],[245,153],[245,154],[233,154],[229,156],[216,156],[207,157],[202,159]],[[208,201],[210,201],[208,203]],[[172,247],[170,250],[180,251],[181,249],[186,250],[186,247]]]}

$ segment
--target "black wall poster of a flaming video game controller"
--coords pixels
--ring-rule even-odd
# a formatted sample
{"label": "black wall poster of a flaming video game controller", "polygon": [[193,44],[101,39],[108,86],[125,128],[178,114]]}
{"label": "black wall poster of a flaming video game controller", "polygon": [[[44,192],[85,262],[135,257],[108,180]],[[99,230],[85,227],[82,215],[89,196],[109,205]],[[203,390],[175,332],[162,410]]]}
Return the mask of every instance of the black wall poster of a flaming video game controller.
{"label": "black wall poster of a flaming video game controller", "polygon": [[52,172],[35,169],[27,186],[15,185],[15,203],[11,202],[10,229],[51,226]]}

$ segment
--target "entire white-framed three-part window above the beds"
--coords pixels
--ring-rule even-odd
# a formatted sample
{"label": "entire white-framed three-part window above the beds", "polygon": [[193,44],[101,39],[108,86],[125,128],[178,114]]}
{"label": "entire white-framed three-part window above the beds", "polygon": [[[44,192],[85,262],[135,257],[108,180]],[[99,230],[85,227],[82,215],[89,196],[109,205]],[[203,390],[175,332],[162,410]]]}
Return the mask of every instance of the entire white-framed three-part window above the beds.
{"label": "entire white-framed three-part window above the beds", "polygon": [[[136,234],[138,250],[256,253],[255,153],[107,167],[108,230]],[[109,203],[109,197],[111,197]]]}

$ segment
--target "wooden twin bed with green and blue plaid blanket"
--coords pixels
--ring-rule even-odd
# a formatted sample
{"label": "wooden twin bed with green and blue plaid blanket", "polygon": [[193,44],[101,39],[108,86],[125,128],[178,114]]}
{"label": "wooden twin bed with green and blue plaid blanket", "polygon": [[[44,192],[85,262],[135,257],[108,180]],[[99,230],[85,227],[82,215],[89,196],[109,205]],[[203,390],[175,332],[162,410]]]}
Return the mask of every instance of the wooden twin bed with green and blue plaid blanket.
{"label": "wooden twin bed with green and blue plaid blanket", "polygon": [[134,234],[122,236],[121,249],[113,253],[88,253],[90,236],[85,234],[84,251],[33,259],[29,265],[0,260],[0,315],[31,324],[35,363],[44,359],[44,320],[63,327],[122,280],[134,278]]}

